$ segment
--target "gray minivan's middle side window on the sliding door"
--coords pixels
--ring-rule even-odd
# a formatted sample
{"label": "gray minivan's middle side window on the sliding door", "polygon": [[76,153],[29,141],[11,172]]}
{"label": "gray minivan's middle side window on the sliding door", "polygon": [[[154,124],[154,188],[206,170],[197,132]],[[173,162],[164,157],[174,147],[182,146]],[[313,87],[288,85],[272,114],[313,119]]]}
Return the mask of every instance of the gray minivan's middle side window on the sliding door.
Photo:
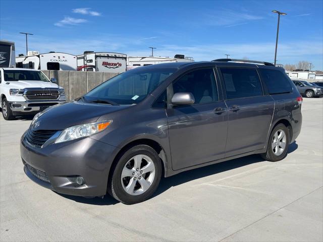
{"label": "gray minivan's middle side window on the sliding door", "polygon": [[221,68],[227,99],[261,96],[262,87],[255,69]]}

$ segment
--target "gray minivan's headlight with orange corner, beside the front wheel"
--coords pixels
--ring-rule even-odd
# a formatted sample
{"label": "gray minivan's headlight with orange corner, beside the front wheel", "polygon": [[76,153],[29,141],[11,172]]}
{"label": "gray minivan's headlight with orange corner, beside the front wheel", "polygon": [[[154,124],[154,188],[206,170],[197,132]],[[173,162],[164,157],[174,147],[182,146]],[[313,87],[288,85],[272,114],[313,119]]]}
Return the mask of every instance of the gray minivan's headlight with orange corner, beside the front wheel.
{"label": "gray minivan's headlight with orange corner, beside the front wheel", "polygon": [[55,141],[55,143],[61,143],[69,140],[75,140],[82,137],[87,137],[90,135],[94,135],[105,130],[110,124],[112,120],[105,120],[97,123],[90,123],[84,125],[76,125],[69,127],[61,133],[59,138]]}

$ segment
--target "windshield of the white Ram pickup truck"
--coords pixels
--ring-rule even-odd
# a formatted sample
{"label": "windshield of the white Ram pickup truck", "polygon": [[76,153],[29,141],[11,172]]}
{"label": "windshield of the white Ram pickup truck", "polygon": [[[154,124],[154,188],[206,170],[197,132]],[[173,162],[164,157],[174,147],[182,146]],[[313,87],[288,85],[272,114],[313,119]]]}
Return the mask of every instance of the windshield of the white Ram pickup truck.
{"label": "windshield of the white Ram pickup truck", "polygon": [[43,81],[49,82],[48,78],[39,71],[28,70],[5,70],[5,81]]}

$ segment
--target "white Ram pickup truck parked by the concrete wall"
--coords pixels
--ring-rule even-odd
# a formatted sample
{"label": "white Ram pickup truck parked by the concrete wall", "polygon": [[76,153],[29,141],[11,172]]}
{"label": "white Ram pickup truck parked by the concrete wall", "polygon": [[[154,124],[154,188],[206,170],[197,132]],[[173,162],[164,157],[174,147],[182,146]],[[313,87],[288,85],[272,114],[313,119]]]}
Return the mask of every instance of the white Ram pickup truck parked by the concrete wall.
{"label": "white Ram pickup truck parked by the concrete wall", "polygon": [[64,88],[41,71],[0,68],[0,104],[6,120],[15,116],[36,114],[66,101]]}

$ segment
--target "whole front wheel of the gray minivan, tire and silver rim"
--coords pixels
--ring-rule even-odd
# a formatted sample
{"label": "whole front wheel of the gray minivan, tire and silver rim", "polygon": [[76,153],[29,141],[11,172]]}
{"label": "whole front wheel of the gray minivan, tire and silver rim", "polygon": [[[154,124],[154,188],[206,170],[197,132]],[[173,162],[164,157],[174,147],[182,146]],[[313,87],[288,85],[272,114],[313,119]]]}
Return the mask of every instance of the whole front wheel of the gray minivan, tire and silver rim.
{"label": "whole front wheel of the gray minivan, tire and silver rim", "polygon": [[154,149],[147,145],[134,146],[120,157],[107,191],[124,204],[143,202],[156,191],[161,169]]}

